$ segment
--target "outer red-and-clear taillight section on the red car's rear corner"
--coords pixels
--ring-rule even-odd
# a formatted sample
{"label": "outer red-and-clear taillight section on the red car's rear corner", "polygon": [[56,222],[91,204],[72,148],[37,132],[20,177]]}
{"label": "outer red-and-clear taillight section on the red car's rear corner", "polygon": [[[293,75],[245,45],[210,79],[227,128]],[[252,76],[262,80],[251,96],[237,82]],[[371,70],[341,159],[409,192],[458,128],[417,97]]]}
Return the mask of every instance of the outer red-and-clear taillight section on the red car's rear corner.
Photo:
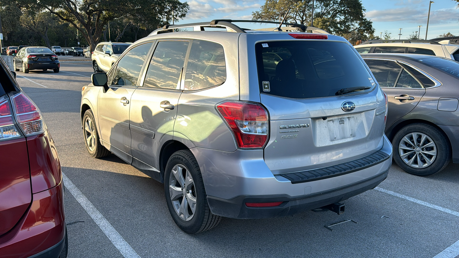
{"label": "outer red-and-clear taillight section on the red car's rear corner", "polygon": [[40,112],[26,95],[13,96],[16,119],[26,136],[43,133],[45,127]]}

